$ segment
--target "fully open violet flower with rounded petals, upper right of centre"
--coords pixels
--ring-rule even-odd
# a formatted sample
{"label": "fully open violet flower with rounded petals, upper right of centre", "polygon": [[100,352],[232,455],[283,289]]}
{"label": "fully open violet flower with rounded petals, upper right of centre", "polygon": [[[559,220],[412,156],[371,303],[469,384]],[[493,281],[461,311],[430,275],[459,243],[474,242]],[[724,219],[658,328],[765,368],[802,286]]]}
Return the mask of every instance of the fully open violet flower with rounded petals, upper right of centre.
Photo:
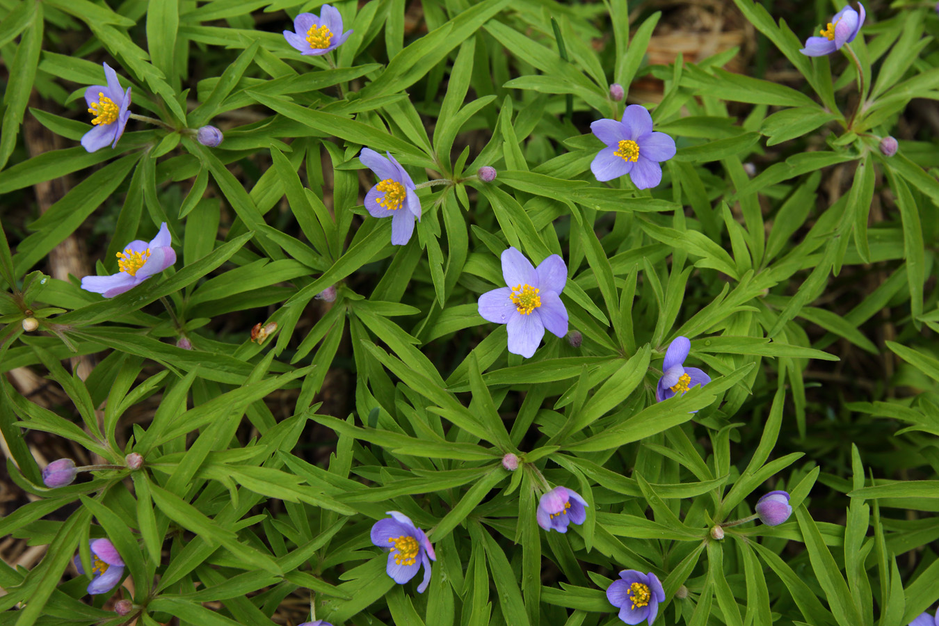
{"label": "fully open violet flower with rounded petals, upper right of centre", "polygon": [[659,162],[675,156],[675,140],[664,132],[653,132],[652,115],[639,104],[630,104],[623,121],[598,119],[590,130],[607,147],[600,150],[590,169],[603,182],[628,174],[638,189],[662,182]]}

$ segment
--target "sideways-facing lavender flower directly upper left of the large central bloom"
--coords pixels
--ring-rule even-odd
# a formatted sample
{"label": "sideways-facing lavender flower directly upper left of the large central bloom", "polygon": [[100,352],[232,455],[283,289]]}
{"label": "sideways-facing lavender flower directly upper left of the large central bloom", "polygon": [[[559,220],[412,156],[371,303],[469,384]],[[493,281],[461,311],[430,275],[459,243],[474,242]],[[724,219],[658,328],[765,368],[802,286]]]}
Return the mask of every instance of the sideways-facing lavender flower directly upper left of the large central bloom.
{"label": "sideways-facing lavender flower directly upper left of the large central bloom", "polygon": [[421,201],[405,168],[390,152],[385,154],[388,159],[367,147],[363,147],[359,154],[362,164],[380,178],[378,184],[365,194],[365,208],[373,218],[393,216],[392,243],[403,246],[414,233],[414,218],[421,219]]}

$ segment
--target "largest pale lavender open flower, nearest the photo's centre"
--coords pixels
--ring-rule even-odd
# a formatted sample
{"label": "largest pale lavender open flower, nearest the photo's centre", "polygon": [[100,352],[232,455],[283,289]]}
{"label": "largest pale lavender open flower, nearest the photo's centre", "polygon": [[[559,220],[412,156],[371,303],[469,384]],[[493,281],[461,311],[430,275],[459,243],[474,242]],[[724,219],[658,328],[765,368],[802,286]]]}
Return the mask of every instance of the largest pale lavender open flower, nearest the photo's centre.
{"label": "largest pale lavender open flower, nearest the photo's centre", "polygon": [[567,334],[567,310],[561,292],[567,266],[551,254],[538,267],[515,248],[502,252],[502,278],[508,286],[479,297],[479,314],[487,321],[508,324],[509,352],[530,359],[545,336],[545,328],[558,337]]}

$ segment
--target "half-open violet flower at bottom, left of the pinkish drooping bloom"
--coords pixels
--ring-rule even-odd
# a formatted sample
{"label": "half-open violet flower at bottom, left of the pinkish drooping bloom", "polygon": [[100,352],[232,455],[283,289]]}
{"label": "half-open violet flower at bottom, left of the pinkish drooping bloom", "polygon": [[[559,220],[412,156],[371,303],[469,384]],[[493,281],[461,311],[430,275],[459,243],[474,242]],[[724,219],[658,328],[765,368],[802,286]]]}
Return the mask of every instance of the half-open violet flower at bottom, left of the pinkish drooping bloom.
{"label": "half-open violet flower at bottom, left of the pinkish drooping bloom", "polygon": [[417,588],[418,593],[423,593],[430,584],[430,561],[437,560],[434,546],[407,515],[398,511],[388,514],[392,519],[378,520],[372,527],[372,542],[380,548],[391,548],[385,571],[398,585],[417,575],[423,564],[423,581]]}

